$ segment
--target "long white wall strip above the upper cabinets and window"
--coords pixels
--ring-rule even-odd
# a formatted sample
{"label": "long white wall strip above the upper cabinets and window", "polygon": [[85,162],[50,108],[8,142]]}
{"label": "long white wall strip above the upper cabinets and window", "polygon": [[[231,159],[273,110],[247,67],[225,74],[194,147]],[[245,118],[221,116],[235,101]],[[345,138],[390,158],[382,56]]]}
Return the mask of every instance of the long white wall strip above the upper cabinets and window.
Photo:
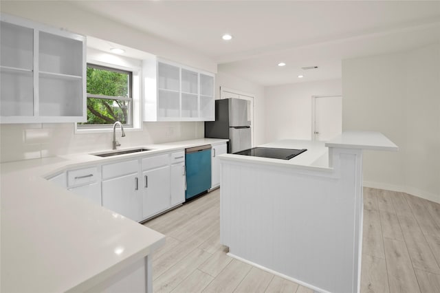
{"label": "long white wall strip above the upper cabinets and window", "polygon": [[175,43],[100,17],[68,1],[1,1],[0,10],[55,28],[133,47],[190,67],[217,72],[217,63],[198,52],[191,52]]}

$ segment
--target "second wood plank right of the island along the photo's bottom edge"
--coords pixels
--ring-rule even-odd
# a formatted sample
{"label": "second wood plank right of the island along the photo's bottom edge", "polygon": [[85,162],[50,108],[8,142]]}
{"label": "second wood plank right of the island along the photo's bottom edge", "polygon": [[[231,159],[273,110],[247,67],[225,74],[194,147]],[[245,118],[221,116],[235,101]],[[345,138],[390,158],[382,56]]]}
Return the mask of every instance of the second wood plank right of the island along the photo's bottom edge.
{"label": "second wood plank right of the island along the photo's bottom edge", "polygon": [[384,238],[384,246],[390,292],[420,292],[405,243]]}

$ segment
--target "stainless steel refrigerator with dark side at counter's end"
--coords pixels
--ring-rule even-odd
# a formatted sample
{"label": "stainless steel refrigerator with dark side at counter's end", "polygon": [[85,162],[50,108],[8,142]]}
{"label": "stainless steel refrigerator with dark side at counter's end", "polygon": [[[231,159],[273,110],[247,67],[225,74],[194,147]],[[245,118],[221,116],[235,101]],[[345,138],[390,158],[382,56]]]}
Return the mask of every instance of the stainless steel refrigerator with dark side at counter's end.
{"label": "stainless steel refrigerator with dark side at counter's end", "polygon": [[215,121],[205,122],[205,138],[226,138],[228,153],[252,147],[248,101],[238,98],[215,100]]}

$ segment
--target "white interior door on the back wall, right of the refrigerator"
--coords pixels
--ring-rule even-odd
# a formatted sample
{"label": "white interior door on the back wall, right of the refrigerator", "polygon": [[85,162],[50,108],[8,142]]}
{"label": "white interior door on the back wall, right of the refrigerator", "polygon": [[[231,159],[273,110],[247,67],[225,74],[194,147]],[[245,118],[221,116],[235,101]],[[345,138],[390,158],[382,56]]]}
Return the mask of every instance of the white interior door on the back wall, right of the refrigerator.
{"label": "white interior door on the back wall, right of the refrigerator", "polygon": [[312,138],[327,141],[342,133],[342,96],[314,96]]}

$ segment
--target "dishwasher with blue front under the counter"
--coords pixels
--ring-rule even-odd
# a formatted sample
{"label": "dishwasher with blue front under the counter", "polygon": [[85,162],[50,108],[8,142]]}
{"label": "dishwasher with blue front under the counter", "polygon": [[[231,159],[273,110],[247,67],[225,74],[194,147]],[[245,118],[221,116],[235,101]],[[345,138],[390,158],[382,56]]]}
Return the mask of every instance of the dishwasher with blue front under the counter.
{"label": "dishwasher with blue front under the counter", "polygon": [[211,145],[185,149],[185,199],[205,193],[211,188]]}

